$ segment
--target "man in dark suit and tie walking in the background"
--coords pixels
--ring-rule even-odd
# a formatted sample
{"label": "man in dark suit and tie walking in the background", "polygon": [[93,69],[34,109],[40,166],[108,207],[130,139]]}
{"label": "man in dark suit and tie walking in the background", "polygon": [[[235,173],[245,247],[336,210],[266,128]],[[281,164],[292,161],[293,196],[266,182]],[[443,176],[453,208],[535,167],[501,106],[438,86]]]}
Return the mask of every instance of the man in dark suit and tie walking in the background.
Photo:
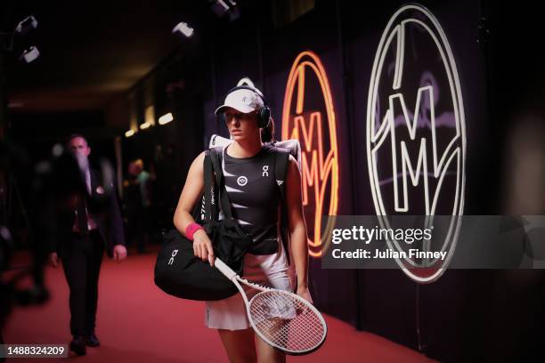
{"label": "man in dark suit and tie walking in the background", "polygon": [[[85,355],[85,346],[100,345],[94,327],[102,255],[105,250],[119,262],[126,258],[126,246],[113,182],[102,185],[102,175],[89,167],[91,148],[85,137],[70,136],[68,147],[76,157],[81,182],[67,181],[70,190],[59,198],[58,238],[49,261],[57,267],[61,259],[69,284],[70,332],[74,337],[70,350]],[[74,177],[77,179],[77,173]]]}

